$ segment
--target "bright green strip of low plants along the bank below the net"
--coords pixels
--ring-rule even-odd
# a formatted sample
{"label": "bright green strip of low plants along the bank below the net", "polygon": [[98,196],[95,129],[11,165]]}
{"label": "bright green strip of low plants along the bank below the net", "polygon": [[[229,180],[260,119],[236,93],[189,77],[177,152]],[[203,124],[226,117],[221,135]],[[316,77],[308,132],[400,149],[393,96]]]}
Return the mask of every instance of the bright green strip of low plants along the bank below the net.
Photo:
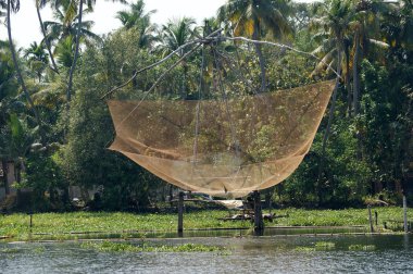
{"label": "bright green strip of low plants along the bank below the net", "polygon": [[[402,220],[401,208],[374,208],[378,212],[379,224],[386,220]],[[273,211],[274,212],[274,211]],[[368,225],[366,209],[347,210],[275,210],[277,215],[267,226],[351,226]],[[184,215],[185,229],[190,228],[251,228],[252,224],[243,222],[224,222],[218,220],[228,215],[225,210],[204,210]],[[413,209],[409,209],[409,220],[413,217]],[[70,213],[38,213],[33,215],[32,235],[29,216],[23,213],[0,215],[0,236],[11,236],[13,240],[36,239],[35,234],[61,235],[65,238],[68,233],[118,233],[128,232],[175,232],[177,226],[176,213],[134,214],[124,212],[70,212]],[[30,238],[32,237],[32,238]],[[73,238],[73,235],[70,236]],[[39,237],[38,237],[39,238]]]}

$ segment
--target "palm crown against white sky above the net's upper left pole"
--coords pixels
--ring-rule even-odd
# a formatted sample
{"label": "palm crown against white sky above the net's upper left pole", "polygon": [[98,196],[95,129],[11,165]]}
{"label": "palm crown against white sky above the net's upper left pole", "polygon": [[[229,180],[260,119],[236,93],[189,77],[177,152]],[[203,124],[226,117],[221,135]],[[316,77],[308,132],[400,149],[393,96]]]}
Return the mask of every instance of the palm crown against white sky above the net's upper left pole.
{"label": "palm crown against white sky above the net's upper left pole", "polygon": [[153,35],[157,25],[151,24],[151,15],[155,10],[145,13],[143,0],[138,0],[129,5],[129,11],[117,12],[116,18],[122,22],[124,29],[136,28],[139,32],[139,48],[151,48],[158,38]]}

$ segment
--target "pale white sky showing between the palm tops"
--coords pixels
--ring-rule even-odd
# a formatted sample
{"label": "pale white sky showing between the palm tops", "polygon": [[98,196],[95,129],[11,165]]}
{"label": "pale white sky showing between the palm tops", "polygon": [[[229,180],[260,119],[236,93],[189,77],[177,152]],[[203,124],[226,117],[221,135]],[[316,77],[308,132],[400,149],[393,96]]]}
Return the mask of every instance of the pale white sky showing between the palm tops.
{"label": "pale white sky showing between the palm tops", "polygon": [[[129,0],[132,2],[134,0]],[[305,1],[305,0],[301,0]],[[309,0],[306,0],[309,1]],[[191,16],[200,24],[205,17],[216,14],[216,10],[226,0],[147,0],[146,10],[157,10],[152,15],[152,22],[164,24],[168,18]],[[99,35],[108,34],[121,26],[115,18],[116,12],[127,10],[127,5],[113,3],[112,1],[98,0],[95,12],[85,16],[85,20],[95,21],[92,32]],[[43,21],[53,21],[51,10],[41,10]],[[21,10],[11,17],[13,40],[18,47],[28,47],[30,42],[39,42],[42,39],[37,20],[35,0],[21,0]],[[0,26],[0,39],[7,39],[5,26]]]}

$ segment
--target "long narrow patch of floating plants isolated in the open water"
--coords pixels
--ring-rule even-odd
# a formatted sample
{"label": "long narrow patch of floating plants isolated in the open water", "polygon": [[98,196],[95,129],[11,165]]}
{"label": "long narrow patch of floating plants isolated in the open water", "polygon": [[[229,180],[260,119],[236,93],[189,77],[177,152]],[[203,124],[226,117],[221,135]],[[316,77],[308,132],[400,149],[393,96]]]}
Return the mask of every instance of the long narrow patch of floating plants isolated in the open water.
{"label": "long narrow patch of floating plants isolated in the open water", "polygon": [[83,242],[80,247],[85,249],[97,250],[100,252],[222,252],[223,254],[228,253],[228,251],[224,247],[205,246],[199,244],[155,246],[150,245],[148,242],[133,245],[130,242],[115,242],[104,240],[101,242]]}

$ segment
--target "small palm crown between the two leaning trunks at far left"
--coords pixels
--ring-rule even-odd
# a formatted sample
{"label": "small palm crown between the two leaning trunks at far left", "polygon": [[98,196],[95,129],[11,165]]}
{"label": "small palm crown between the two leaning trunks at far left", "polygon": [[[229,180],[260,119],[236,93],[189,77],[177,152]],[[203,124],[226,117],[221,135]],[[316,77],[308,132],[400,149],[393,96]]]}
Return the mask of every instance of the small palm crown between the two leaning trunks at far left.
{"label": "small palm crown between the two leaning trunks at far left", "polygon": [[48,53],[46,53],[43,43],[38,45],[36,41],[32,42],[30,47],[24,51],[24,57],[40,83],[42,73],[49,63]]}

